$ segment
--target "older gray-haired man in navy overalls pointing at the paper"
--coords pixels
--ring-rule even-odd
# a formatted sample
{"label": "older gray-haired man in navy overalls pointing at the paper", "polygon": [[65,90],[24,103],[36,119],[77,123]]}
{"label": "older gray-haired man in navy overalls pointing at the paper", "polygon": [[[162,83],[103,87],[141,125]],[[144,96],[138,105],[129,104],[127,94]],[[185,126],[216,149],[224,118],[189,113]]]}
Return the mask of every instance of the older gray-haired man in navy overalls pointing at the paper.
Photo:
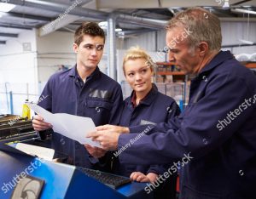
{"label": "older gray-haired man in navy overalls pointing at the paper", "polygon": [[220,51],[221,42],[215,15],[201,8],[177,14],[167,26],[166,44],[171,60],[196,75],[189,105],[150,134],[119,134],[145,127],[108,126],[90,136],[108,150],[130,143],[120,162],[173,163],[169,174],[183,168],[181,198],[255,198],[256,78],[229,51]]}

